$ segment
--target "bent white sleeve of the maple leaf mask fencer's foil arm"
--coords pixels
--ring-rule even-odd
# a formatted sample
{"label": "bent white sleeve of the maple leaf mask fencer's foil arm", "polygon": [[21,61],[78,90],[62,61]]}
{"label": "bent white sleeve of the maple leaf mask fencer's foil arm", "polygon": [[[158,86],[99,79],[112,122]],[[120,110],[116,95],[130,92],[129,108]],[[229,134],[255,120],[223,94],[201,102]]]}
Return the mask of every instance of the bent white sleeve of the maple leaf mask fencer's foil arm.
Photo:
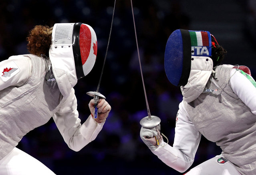
{"label": "bent white sleeve of the maple leaf mask fencer's foil arm", "polygon": [[71,95],[54,114],[53,119],[64,141],[74,151],[81,150],[93,141],[104,125],[104,123],[95,122],[91,115],[81,125],[81,120],[78,118],[77,98],[73,88]]}

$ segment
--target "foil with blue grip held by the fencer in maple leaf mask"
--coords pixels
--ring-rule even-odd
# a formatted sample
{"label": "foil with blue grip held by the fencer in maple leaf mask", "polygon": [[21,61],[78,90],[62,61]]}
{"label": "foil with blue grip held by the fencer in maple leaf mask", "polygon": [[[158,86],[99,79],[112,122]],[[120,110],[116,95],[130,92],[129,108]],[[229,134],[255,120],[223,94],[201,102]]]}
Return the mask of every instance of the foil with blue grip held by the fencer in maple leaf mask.
{"label": "foil with blue grip held by the fencer in maple leaf mask", "polygon": [[[116,2],[116,0],[115,0]],[[106,58],[107,58],[107,52],[109,50],[109,41],[110,41],[110,36],[111,36],[111,32],[112,32],[112,26],[113,26],[113,20],[114,20],[114,13],[115,13],[115,3],[114,3],[114,8],[113,8],[113,15],[112,15],[112,20],[111,20],[111,27],[110,27],[110,32],[109,32],[109,40],[107,43],[107,50],[106,50],[106,54],[105,54],[105,58],[104,58],[104,62],[103,62],[103,66],[102,66],[102,70],[101,70],[101,76],[99,78],[99,83],[97,86],[97,91],[90,91],[88,93],[86,93],[87,95],[93,97],[94,100],[94,108],[95,108],[95,112],[94,112],[94,118],[97,119],[98,117],[98,108],[97,108],[97,104],[99,102],[99,99],[106,99],[106,97],[104,95],[102,95],[101,93],[99,93],[99,86],[101,84],[101,78],[102,78],[102,74],[103,74],[103,70],[104,70],[104,66],[105,66],[105,62],[106,62]]]}

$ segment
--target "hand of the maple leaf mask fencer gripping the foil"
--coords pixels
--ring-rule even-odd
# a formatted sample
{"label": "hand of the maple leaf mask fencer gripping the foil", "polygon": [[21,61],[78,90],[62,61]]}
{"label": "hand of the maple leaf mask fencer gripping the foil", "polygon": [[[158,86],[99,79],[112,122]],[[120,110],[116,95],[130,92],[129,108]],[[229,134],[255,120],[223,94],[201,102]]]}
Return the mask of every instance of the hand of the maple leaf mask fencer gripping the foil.
{"label": "hand of the maple leaf mask fencer gripping the foil", "polygon": [[[107,101],[105,99],[99,99],[99,102],[96,107],[98,108],[98,117],[97,117],[97,119],[94,119],[94,120],[98,123],[105,122],[109,115],[109,112],[111,110],[111,106],[109,105],[109,103],[107,103]],[[89,108],[90,108],[91,114],[93,116],[93,114],[95,113],[93,99],[91,99],[91,101],[89,103]]]}

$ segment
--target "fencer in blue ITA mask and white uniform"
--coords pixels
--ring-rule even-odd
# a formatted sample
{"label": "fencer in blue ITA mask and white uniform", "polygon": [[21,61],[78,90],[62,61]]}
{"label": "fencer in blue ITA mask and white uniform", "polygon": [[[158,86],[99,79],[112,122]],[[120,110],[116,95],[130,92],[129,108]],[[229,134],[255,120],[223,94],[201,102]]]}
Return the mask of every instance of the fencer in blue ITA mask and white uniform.
{"label": "fencer in blue ITA mask and white uniform", "polygon": [[179,172],[194,162],[202,135],[222,149],[186,175],[256,174],[256,82],[248,67],[222,64],[225,53],[208,31],[175,30],[167,40],[165,73],[183,95],[174,143],[163,141],[160,125],[142,127],[140,136]]}

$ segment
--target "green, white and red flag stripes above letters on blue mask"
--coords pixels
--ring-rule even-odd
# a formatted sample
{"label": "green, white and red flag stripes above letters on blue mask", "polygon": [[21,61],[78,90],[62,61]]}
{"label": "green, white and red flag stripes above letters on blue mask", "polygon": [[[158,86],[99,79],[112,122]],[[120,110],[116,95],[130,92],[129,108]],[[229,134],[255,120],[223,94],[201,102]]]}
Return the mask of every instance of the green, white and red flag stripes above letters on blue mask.
{"label": "green, white and red flag stripes above letters on blue mask", "polygon": [[209,46],[209,39],[207,32],[189,31],[191,38],[191,46]]}

